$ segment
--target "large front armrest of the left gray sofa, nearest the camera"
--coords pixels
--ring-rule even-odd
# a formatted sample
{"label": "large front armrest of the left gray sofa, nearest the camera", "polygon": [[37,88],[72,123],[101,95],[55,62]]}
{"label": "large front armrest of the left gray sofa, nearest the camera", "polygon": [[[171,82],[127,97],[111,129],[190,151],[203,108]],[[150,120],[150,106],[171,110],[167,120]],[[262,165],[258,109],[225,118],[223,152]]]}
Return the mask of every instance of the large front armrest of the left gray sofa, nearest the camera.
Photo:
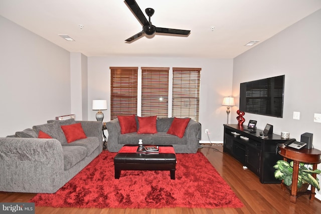
{"label": "large front armrest of the left gray sofa, nearest the camera", "polygon": [[65,183],[57,139],[0,138],[0,191],[54,193]]}

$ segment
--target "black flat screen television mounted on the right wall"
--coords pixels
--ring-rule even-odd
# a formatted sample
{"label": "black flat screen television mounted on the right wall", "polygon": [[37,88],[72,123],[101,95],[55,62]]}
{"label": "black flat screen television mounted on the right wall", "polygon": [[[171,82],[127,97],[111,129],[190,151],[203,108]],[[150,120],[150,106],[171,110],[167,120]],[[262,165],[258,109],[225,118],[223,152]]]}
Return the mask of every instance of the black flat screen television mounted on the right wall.
{"label": "black flat screen television mounted on the right wall", "polygon": [[240,111],[283,117],[285,75],[240,84]]}

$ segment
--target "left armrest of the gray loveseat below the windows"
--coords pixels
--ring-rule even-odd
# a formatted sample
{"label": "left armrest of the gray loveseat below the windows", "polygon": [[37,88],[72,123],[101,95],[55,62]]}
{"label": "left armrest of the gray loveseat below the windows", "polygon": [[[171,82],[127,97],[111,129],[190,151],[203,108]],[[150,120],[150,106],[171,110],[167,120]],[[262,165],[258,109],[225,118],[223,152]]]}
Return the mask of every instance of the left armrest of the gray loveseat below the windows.
{"label": "left armrest of the gray loveseat below the windows", "polygon": [[118,152],[118,150],[122,146],[121,144],[118,144],[118,137],[121,133],[118,118],[107,122],[106,127],[108,131],[108,139],[107,139],[108,151]]}

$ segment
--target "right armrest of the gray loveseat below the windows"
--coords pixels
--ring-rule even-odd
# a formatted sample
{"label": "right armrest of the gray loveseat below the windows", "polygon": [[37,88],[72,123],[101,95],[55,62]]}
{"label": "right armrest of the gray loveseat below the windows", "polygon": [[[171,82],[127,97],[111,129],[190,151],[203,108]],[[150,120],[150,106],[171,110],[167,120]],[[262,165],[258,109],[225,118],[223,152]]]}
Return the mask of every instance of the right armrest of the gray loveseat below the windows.
{"label": "right armrest of the gray loveseat below the windows", "polygon": [[201,124],[195,120],[190,120],[185,129],[185,136],[187,138],[187,147],[189,150],[197,151],[200,140],[198,139],[198,133],[201,129]]}

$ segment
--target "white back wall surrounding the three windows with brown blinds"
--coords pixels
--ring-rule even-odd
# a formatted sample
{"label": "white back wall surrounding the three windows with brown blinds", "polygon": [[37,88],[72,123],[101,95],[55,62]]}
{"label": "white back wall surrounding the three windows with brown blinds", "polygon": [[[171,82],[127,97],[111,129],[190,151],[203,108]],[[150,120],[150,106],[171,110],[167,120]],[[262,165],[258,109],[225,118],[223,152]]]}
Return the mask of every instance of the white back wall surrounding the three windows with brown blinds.
{"label": "white back wall surrounding the three windows with brown blinds", "polygon": [[[205,129],[209,129],[211,141],[223,142],[223,123],[226,123],[226,107],[223,97],[232,93],[233,60],[197,58],[155,58],[155,57],[88,57],[88,118],[95,119],[91,100],[106,99],[107,110],[104,121],[110,120],[110,70],[112,66],[140,67],[194,67],[202,68],[200,88],[200,122],[202,141],[209,141]],[[107,133],[106,133],[107,134]]]}

